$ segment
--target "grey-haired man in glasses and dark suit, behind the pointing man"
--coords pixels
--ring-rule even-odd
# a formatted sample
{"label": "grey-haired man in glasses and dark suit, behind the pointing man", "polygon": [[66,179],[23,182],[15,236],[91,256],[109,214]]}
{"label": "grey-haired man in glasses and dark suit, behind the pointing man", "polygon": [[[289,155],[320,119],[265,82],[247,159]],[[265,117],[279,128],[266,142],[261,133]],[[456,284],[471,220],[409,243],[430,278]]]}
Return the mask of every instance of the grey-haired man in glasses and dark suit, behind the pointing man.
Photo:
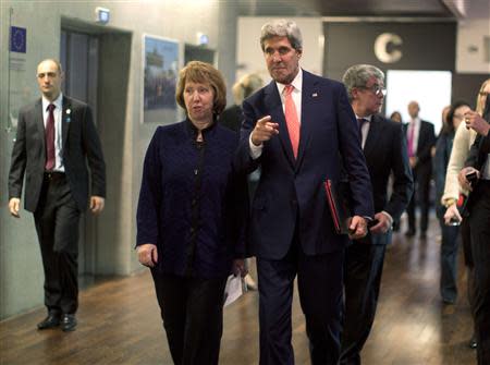
{"label": "grey-haired man in glasses and dark suit, behind the pointing man", "polygon": [[[345,252],[345,304],[342,365],[360,364],[360,351],[375,321],[384,252],[391,227],[405,210],[414,190],[401,123],[379,114],[384,98],[384,74],[369,64],[350,68],[343,82],[359,123],[364,155],[371,177],[375,221],[368,234],[354,240]],[[393,173],[393,192],[388,182]]]}

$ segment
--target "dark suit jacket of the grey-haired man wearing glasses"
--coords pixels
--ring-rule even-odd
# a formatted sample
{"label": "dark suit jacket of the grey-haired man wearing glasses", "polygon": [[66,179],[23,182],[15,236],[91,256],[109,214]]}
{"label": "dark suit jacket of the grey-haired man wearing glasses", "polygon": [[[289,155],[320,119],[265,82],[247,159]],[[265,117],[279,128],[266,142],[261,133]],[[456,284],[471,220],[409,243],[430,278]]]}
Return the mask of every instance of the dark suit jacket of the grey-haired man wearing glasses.
{"label": "dark suit jacket of the grey-haired man wearing glasses", "polygon": [[[372,115],[364,156],[371,177],[375,211],[384,210],[399,220],[414,191],[402,125],[381,115]],[[391,172],[394,178],[393,192],[388,199]]]}

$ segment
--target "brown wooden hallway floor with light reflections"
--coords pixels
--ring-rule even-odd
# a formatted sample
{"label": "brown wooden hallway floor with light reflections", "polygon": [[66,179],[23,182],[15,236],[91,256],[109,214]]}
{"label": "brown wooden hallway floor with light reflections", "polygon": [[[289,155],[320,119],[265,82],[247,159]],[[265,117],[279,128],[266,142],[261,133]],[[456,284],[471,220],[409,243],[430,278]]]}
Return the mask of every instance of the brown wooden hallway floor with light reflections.
{"label": "brown wooden hallway floor with light reflections", "polygon": [[[427,240],[406,239],[404,226],[388,250],[380,305],[363,352],[365,365],[471,365],[471,320],[466,272],[460,265],[460,297],[439,296],[439,227]],[[254,275],[255,277],[255,275]],[[257,292],[225,309],[220,364],[258,363]],[[147,271],[96,283],[81,293],[78,329],[37,331],[45,309],[0,323],[0,364],[172,364]],[[296,364],[309,364],[297,295],[293,309]]]}

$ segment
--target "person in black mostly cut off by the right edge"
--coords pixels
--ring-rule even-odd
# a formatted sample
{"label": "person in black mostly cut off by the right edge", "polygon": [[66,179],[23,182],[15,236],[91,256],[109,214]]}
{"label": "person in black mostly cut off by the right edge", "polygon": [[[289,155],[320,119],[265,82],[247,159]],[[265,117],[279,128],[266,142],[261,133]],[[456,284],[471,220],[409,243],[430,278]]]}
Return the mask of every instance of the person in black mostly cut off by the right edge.
{"label": "person in black mostly cut off by the right edge", "polygon": [[[475,272],[471,309],[478,343],[478,365],[486,365],[490,364],[490,97],[488,93],[483,115],[476,111],[468,111],[465,113],[465,123],[468,129],[478,133],[458,180],[464,188],[471,191],[468,197]],[[469,174],[477,177],[471,183],[467,179]]]}

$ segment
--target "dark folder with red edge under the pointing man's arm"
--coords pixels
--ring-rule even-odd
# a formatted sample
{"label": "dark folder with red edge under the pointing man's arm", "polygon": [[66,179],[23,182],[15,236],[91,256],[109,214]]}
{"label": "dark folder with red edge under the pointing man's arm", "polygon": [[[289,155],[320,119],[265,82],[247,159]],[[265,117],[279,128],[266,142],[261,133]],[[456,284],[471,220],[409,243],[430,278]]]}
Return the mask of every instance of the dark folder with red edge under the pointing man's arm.
{"label": "dark folder with red edge under the pointing man's arm", "polygon": [[348,183],[334,182],[328,179],[324,182],[324,192],[332,216],[333,227],[338,234],[348,234],[351,226],[351,209],[348,208]]}

